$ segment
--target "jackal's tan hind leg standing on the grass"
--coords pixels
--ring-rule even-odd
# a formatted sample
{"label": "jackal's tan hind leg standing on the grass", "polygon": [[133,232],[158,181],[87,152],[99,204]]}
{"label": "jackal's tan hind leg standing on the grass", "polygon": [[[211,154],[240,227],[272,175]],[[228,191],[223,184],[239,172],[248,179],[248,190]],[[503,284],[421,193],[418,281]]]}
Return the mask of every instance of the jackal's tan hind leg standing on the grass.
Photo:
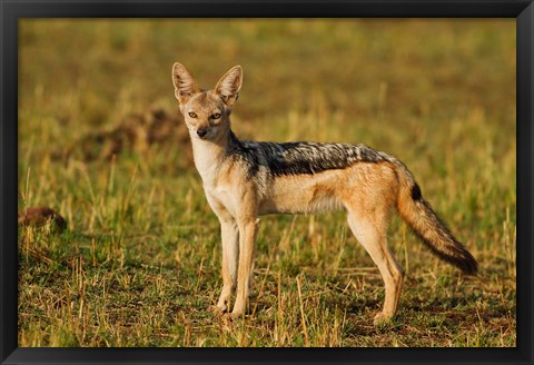
{"label": "jackal's tan hind leg standing on the grass", "polygon": [[349,210],[347,216],[350,230],[369,254],[384,280],[384,308],[375,316],[375,325],[387,322],[397,312],[404,277],[403,269],[387,247],[387,215],[379,216],[379,219],[369,219],[356,210]]}

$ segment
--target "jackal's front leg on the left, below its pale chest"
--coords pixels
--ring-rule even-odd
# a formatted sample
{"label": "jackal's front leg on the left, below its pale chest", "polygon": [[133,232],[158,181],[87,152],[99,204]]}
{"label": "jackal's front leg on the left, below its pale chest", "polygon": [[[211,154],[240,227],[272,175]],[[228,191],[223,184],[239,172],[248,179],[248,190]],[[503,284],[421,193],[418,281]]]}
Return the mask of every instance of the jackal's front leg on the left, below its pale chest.
{"label": "jackal's front leg on the left, below its pale chest", "polygon": [[222,290],[217,309],[225,313],[229,310],[231,292],[236,288],[239,229],[234,219],[219,220],[222,241]]}

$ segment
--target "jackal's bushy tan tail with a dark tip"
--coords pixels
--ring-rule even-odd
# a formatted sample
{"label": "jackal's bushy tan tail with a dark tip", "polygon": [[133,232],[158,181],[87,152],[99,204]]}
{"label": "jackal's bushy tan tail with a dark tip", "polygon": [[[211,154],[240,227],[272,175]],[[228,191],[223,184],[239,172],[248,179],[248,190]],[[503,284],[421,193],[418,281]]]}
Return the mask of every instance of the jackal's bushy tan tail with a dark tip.
{"label": "jackal's bushy tan tail with a dark tip", "polygon": [[421,188],[406,166],[400,161],[396,165],[400,189],[397,198],[397,210],[414,233],[423,240],[438,258],[458,267],[464,274],[475,275],[478,268],[473,255],[453,236],[423,199]]}

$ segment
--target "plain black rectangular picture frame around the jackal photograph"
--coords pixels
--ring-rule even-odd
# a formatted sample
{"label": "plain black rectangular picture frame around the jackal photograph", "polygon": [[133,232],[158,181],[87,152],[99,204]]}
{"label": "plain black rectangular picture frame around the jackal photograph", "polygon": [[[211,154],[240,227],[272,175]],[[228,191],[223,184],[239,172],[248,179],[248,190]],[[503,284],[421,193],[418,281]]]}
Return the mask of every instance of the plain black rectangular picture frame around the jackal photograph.
{"label": "plain black rectangular picture frame around the jackal photograph", "polygon": [[[516,18],[517,346],[515,348],[19,348],[17,345],[18,20],[21,18]],[[1,364],[532,364],[532,0],[0,0],[0,363]]]}

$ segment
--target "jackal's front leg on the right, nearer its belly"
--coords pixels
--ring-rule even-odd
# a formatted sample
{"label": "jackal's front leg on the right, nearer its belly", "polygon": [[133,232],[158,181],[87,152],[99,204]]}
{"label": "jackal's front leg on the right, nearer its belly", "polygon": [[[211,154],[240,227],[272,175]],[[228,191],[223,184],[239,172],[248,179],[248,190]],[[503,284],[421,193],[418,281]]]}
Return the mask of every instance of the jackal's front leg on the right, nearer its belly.
{"label": "jackal's front leg on the right, nearer its belly", "polygon": [[239,226],[239,267],[237,272],[237,294],[231,317],[241,317],[248,307],[251,276],[254,269],[254,251],[258,235],[259,219],[240,221]]}

